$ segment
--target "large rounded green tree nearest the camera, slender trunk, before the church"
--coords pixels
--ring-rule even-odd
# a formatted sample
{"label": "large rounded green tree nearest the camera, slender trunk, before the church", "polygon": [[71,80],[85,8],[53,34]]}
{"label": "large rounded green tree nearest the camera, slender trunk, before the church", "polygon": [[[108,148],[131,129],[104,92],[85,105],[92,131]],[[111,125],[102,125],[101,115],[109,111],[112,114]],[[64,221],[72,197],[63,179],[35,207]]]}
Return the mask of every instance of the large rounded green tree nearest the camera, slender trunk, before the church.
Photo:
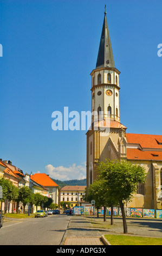
{"label": "large rounded green tree nearest the camera, slender trunk, before the church", "polygon": [[146,180],[145,168],[140,164],[127,161],[100,162],[98,166],[99,178],[106,182],[111,198],[118,201],[122,212],[124,233],[127,233],[124,202],[130,202],[137,192],[138,184],[144,184]]}

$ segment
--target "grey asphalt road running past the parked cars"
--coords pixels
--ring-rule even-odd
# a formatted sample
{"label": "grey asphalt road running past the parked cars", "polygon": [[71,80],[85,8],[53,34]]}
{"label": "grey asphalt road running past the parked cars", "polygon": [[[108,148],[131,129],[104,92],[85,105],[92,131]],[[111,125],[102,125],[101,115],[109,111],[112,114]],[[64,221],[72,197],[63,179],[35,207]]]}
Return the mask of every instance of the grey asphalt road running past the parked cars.
{"label": "grey asphalt road running past the parked cars", "polygon": [[0,245],[60,245],[70,216],[18,219],[3,223]]}

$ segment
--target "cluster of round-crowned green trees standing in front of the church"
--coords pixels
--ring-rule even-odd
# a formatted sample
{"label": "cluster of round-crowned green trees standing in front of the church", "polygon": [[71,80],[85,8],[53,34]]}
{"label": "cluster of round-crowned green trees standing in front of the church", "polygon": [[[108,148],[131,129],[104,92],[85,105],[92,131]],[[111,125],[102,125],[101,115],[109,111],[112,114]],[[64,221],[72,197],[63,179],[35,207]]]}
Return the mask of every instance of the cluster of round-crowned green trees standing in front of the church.
{"label": "cluster of round-crowned green trees standing in front of the church", "polygon": [[127,233],[124,203],[130,202],[137,192],[138,184],[146,180],[145,168],[140,164],[127,161],[100,162],[98,179],[86,189],[84,200],[95,200],[97,209],[104,208],[103,220],[106,221],[106,208],[111,207],[111,224],[113,224],[113,206],[120,206],[124,233]]}

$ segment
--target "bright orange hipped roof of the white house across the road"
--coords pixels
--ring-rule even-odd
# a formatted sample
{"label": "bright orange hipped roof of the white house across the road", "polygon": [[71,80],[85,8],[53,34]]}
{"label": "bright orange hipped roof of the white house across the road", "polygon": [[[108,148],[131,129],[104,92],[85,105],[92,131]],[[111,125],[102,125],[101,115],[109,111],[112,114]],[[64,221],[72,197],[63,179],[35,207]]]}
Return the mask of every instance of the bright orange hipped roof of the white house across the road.
{"label": "bright orange hipped roof of the white house across the road", "polygon": [[58,185],[46,173],[36,173],[31,175],[30,179],[44,187],[58,187]]}

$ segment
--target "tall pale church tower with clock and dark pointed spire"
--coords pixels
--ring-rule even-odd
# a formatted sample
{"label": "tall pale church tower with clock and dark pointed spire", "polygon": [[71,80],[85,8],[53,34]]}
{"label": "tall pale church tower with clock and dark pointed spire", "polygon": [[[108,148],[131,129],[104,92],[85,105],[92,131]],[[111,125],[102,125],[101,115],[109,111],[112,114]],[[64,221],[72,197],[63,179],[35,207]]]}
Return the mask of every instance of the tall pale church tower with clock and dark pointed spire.
{"label": "tall pale church tower with clock and dark pointed spire", "polygon": [[126,127],[120,123],[120,71],[115,68],[106,10],[92,76],[92,126],[87,132],[87,186],[99,161],[126,159]]}

